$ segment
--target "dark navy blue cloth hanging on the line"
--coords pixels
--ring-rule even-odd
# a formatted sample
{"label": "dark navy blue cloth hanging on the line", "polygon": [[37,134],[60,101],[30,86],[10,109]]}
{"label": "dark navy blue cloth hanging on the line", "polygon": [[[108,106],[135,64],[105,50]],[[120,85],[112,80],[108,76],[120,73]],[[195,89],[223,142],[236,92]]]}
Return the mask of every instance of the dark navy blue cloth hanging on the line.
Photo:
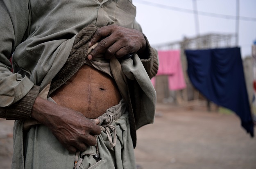
{"label": "dark navy blue cloth hanging on the line", "polygon": [[188,76],[207,99],[236,112],[254,136],[240,48],[186,50]]}

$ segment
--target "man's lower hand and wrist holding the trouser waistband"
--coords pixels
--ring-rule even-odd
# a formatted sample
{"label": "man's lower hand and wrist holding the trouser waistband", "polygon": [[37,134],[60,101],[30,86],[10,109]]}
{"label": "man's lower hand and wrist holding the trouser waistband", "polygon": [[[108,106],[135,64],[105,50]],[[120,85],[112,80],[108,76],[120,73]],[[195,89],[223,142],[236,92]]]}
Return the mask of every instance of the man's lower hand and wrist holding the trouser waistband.
{"label": "man's lower hand and wrist holding the trouser waistband", "polygon": [[36,98],[33,105],[32,118],[49,127],[70,153],[75,153],[77,149],[84,151],[87,145],[95,145],[95,135],[101,133],[96,121],[40,97]]}

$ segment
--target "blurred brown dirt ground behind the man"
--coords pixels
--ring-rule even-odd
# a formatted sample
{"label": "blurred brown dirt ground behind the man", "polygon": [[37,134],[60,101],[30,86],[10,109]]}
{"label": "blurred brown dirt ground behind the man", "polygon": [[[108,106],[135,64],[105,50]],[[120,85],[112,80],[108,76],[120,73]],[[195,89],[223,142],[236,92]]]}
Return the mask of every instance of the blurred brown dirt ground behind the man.
{"label": "blurred brown dirt ground behind the man", "polygon": [[[13,121],[0,119],[0,169],[11,168]],[[256,138],[235,114],[157,104],[154,125],[137,132],[139,169],[256,169]]]}

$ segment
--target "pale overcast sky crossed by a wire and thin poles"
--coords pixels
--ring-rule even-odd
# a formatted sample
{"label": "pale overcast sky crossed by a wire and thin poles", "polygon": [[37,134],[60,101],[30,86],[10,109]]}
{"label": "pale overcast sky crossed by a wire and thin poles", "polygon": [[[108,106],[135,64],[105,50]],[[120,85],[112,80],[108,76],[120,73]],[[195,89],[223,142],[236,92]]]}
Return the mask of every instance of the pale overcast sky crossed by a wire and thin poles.
{"label": "pale overcast sky crossed by a wire and thin poles", "polygon": [[[137,7],[136,20],[152,45],[196,35],[194,14],[168,7],[193,10],[193,0],[133,0],[133,4]],[[236,16],[236,0],[197,0],[197,10]],[[256,40],[256,0],[240,0],[240,16],[255,18],[253,21],[240,20],[239,46],[245,57],[251,55],[251,45]],[[236,20],[199,15],[200,34],[235,32]]]}

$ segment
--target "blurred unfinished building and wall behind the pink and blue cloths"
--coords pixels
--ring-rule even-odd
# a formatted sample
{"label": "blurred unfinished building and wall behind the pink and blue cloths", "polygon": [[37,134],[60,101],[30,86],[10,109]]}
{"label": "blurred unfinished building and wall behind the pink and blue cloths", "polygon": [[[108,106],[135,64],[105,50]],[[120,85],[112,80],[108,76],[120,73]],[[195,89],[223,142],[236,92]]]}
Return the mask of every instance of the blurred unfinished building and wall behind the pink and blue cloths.
{"label": "blurred unfinished building and wall behind the pink and blue cloths", "polygon": [[[190,103],[197,102],[199,99],[204,100],[200,96],[199,92],[193,88],[187,71],[187,59],[184,53],[187,49],[208,49],[208,48],[228,48],[235,46],[234,34],[217,34],[217,33],[208,33],[205,35],[197,35],[195,37],[184,37],[183,40],[177,42],[171,42],[166,44],[155,45],[154,47],[157,50],[172,50],[180,49],[180,58],[182,63],[182,70],[184,72],[184,78],[187,84],[187,88],[184,88],[181,91],[170,91],[168,88],[167,75],[157,76],[156,77],[156,93],[157,101],[159,102],[175,102],[182,105],[191,105]],[[190,102],[188,102],[190,101]]]}

